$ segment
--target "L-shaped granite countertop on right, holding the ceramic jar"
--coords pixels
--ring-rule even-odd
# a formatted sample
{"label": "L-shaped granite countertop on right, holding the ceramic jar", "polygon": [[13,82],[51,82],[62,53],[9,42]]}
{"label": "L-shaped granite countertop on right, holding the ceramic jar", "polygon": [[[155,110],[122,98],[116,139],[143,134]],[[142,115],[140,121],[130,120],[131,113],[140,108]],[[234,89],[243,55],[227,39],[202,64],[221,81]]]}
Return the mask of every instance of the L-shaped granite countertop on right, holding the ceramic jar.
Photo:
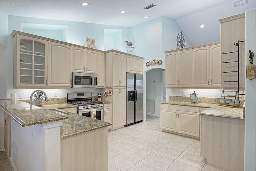
{"label": "L-shaped granite countertop on right, holding the ceramic jar", "polygon": [[171,105],[206,107],[209,109],[202,111],[200,115],[211,115],[211,116],[218,116],[218,117],[229,117],[234,119],[244,119],[244,108],[226,107],[226,106],[220,106],[218,104],[211,104],[211,103],[191,103],[186,101],[164,101],[160,103],[171,104]]}

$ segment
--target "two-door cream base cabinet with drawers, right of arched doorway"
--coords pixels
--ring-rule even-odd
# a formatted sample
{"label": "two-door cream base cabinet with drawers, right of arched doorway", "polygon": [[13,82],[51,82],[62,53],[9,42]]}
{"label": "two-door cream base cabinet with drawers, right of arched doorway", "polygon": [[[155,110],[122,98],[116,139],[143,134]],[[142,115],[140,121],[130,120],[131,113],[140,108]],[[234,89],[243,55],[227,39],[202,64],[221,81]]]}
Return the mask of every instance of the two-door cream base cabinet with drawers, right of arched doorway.
{"label": "two-door cream base cabinet with drawers, right of arched doorway", "polygon": [[160,105],[160,125],[164,131],[199,138],[199,107],[182,105]]}

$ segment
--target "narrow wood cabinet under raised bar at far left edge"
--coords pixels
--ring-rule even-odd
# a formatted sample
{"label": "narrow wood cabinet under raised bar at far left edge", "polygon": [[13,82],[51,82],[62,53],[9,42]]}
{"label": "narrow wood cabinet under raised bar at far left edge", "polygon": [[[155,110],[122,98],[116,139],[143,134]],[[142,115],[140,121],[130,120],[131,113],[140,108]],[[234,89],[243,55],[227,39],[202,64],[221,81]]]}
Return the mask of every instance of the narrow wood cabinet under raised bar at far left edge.
{"label": "narrow wood cabinet under raised bar at far left edge", "polygon": [[4,113],[4,149],[6,155],[10,156],[10,117]]}

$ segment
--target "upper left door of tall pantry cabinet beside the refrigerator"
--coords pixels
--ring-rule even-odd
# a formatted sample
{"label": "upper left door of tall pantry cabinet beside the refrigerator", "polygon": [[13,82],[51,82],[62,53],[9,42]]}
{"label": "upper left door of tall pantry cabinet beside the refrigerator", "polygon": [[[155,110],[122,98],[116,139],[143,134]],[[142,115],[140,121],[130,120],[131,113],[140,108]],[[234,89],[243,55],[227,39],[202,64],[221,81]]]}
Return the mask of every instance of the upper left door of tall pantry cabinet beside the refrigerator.
{"label": "upper left door of tall pantry cabinet beside the refrigerator", "polygon": [[[121,54],[113,53],[113,86],[120,86]],[[126,67],[125,67],[126,68]]]}

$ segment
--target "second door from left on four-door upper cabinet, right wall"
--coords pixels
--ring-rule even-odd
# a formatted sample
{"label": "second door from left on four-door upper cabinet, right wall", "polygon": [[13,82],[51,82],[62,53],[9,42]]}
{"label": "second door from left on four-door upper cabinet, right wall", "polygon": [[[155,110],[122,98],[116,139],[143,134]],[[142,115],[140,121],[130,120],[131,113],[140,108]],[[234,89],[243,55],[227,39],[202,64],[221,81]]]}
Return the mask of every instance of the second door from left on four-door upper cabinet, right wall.
{"label": "second door from left on four-door upper cabinet, right wall", "polygon": [[190,50],[182,50],[178,52],[178,86],[193,86],[193,52]]}

